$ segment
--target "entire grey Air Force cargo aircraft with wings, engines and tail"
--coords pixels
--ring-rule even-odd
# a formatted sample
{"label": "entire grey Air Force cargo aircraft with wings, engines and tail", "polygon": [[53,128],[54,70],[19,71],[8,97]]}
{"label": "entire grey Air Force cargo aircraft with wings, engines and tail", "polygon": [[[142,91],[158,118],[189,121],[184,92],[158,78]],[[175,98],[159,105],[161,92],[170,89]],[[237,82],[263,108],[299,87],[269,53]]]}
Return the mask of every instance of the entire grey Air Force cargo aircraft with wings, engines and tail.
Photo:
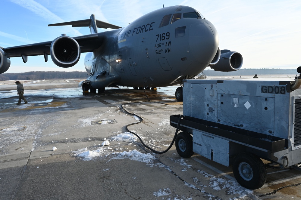
{"label": "entire grey Air Force cargo aircraft with wings, engines and tail", "polygon": [[[206,67],[215,71],[241,68],[240,53],[220,50],[218,33],[212,23],[194,8],[171,6],[152,11],[126,27],[95,19],[50,24],[48,26],[89,26],[91,34],[69,37],[62,34],[49,42],[15,47],[0,47],[0,73],[10,67],[11,57],[48,55],[59,67],[72,67],[86,53],[89,77],[79,84],[83,91],[105,91],[105,87],[130,86],[156,89],[182,84],[195,78]],[[97,28],[114,30],[98,32]],[[182,88],[176,99],[182,100]]]}

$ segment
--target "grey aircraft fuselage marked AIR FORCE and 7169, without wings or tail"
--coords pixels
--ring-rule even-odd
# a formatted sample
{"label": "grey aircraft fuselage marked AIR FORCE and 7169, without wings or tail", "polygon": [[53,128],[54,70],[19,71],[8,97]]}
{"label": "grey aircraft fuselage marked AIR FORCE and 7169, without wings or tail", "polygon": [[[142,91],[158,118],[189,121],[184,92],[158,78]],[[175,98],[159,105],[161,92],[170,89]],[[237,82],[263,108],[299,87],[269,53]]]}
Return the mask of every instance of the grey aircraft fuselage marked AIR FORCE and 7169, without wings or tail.
{"label": "grey aircraft fuselage marked AIR FORCE and 7169, without wings or tail", "polygon": [[202,72],[218,51],[215,27],[187,6],[161,8],[98,34],[105,36],[102,46],[85,57],[93,88],[175,85]]}

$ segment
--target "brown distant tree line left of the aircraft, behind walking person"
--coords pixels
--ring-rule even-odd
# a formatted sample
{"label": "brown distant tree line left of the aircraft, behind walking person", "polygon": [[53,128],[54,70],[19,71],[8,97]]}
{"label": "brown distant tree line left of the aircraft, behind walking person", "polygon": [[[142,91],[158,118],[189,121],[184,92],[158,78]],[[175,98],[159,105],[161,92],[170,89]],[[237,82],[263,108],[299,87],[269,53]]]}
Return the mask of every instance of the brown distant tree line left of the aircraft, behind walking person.
{"label": "brown distant tree line left of the aircraft, behind walking person", "polygon": [[7,80],[40,80],[40,79],[84,79],[87,72],[24,72],[0,74],[0,81]]}

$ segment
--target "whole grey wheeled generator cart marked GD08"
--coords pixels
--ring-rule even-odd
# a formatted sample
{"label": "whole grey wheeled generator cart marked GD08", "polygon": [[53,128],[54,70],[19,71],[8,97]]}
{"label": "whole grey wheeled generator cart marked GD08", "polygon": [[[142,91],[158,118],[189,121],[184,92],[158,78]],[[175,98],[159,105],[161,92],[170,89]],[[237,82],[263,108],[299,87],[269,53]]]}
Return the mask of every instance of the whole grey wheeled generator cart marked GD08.
{"label": "whole grey wheeled generator cart marked GD08", "polygon": [[183,115],[170,116],[171,126],[183,131],[175,140],[178,154],[232,165],[248,189],[263,186],[266,167],[299,168],[300,79],[185,80]]}

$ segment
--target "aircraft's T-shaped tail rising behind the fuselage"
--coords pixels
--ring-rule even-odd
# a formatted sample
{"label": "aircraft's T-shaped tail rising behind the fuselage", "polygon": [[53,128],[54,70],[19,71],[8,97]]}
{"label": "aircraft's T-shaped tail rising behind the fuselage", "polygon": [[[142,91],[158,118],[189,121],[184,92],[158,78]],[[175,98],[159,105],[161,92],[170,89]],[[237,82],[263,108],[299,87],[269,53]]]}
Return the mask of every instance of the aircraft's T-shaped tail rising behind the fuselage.
{"label": "aircraft's T-shaped tail rising behind the fuselage", "polygon": [[97,33],[97,28],[103,28],[103,29],[119,29],[120,26],[115,26],[110,23],[106,23],[100,20],[96,20],[94,14],[91,15],[90,19],[88,20],[78,20],[78,21],[72,21],[72,22],[63,22],[63,23],[55,23],[55,24],[48,24],[48,26],[66,26],[66,25],[72,25],[72,27],[84,27],[89,26],[91,34]]}

